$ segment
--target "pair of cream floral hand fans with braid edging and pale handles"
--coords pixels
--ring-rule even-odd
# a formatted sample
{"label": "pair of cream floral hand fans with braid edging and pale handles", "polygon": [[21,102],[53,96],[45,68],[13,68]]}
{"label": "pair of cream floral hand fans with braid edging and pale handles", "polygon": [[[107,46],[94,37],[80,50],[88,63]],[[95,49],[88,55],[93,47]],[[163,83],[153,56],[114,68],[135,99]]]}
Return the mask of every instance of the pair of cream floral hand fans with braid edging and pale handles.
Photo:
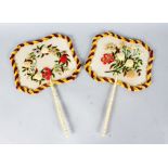
{"label": "pair of cream floral hand fans with braid edging and pale handles", "polygon": [[[81,64],[70,38],[54,34],[21,43],[14,49],[10,60],[18,90],[36,94],[51,87],[57,117],[67,138],[69,127],[54,85],[74,80],[80,73]],[[117,85],[130,91],[147,88],[151,85],[153,60],[153,51],[140,40],[127,39],[113,33],[104,33],[93,38],[85,68],[94,80],[114,83],[102,135],[107,133]]]}

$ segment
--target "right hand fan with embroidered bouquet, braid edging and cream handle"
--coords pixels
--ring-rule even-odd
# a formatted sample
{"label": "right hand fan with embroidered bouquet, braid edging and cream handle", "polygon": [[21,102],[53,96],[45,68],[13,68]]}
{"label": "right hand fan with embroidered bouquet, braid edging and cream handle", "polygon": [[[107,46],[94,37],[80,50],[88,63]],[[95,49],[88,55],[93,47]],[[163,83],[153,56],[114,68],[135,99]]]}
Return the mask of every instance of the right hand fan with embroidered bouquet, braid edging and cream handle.
{"label": "right hand fan with embroidered bouquet, braid edging and cream handle", "polygon": [[114,33],[93,38],[85,68],[95,81],[114,83],[103,122],[103,137],[107,133],[117,85],[130,91],[147,88],[151,85],[153,60],[153,51],[140,40],[127,39]]}

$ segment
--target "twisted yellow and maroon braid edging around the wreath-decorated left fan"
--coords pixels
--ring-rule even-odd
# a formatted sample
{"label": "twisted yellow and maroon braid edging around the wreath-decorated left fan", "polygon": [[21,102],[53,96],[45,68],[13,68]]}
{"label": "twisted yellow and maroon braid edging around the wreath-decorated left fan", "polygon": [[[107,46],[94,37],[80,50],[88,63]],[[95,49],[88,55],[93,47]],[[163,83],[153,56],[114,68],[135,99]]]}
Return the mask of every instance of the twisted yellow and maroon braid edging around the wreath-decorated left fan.
{"label": "twisted yellow and maroon braid edging around the wreath-decorated left fan", "polygon": [[64,82],[69,82],[70,80],[74,80],[76,79],[77,75],[80,73],[80,67],[81,67],[81,64],[80,64],[80,61],[78,59],[78,56],[76,55],[76,52],[75,52],[75,49],[73,47],[73,41],[70,40],[70,38],[68,36],[65,36],[65,35],[61,35],[61,34],[53,34],[53,35],[50,35],[50,36],[47,36],[44,38],[41,38],[41,39],[38,39],[38,40],[34,40],[34,41],[27,41],[27,42],[24,42],[24,43],[21,43],[18,44],[14,51],[12,52],[11,54],[11,57],[10,57],[10,61],[12,63],[12,67],[13,67],[13,70],[14,70],[14,78],[15,78],[15,86],[16,86],[16,89],[23,91],[23,92],[26,92],[26,93],[29,93],[29,94],[35,94],[35,93],[39,93],[40,91],[42,91],[43,89],[50,87],[50,83],[44,83],[44,85],[41,85],[40,87],[38,87],[37,89],[30,89],[30,88],[27,88],[27,87],[24,87],[24,86],[21,86],[21,82],[20,82],[20,74],[18,74],[18,68],[17,68],[17,65],[16,65],[16,62],[15,62],[15,55],[16,53],[21,50],[21,48],[25,47],[25,46],[31,46],[31,44],[36,44],[36,43],[39,43],[39,42],[43,42],[43,41],[47,41],[47,40],[50,40],[52,38],[62,38],[62,39],[65,39],[67,40],[68,42],[68,46],[69,46],[69,49],[73,53],[73,57],[77,64],[77,68],[76,70],[73,73],[72,76],[67,77],[67,78],[63,78],[63,79],[59,79],[59,80],[53,80],[53,83],[55,85],[61,85],[61,83],[64,83]]}

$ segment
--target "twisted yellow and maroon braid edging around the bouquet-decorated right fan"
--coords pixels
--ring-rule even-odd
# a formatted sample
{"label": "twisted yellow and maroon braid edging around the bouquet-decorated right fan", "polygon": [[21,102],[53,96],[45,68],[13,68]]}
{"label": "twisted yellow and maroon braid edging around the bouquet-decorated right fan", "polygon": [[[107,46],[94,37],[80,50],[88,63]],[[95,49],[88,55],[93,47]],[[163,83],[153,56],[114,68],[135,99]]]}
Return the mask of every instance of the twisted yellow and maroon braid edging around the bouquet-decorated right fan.
{"label": "twisted yellow and maroon braid edging around the bouquet-decorated right fan", "polygon": [[148,57],[147,67],[146,67],[146,81],[144,83],[138,85],[138,86],[130,86],[129,83],[126,83],[126,82],[124,82],[121,80],[118,80],[117,81],[117,85],[119,85],[119,86],[128,89],[129,91],[140,91],[140,90],[143,90],[143,89],[150,87],[151,83],[152,83],[152,64],[153,64],[153,61],[154,61],[153,50],[151,50],[151,48],[146,43],[144,43],[143,41],[141,41],[141,40],[128,39],[128,38],[125,38],[122,36],[116,35],[116,34],[114,34],[112,31],[96,35],[93,38],[92,48],[91,48],[90,54],[88,56],[88,60],[87,60],[87,62],[85,64],[85,68],[88,72],[88,74],[95,81],[102,81],[102,82],[106,81],[106,82],[109,82],[109,83],[114,83],[114,81],[115,81],[114,78],[99,77],[96,75],[96,73],[94,73],[91,69],[91,66],[90,66],[90,64],[92,62],[92,59],[94,56],[95,50],[96,50],[98,40],[101,39],[101,38],[103,38],[103,37],[114,37],[114,38],[120,39],[121,41],[126,41],[126,42],[130,42],[130,43],[139,43],[139,44],[143,46],[150,52],[150,57]]}

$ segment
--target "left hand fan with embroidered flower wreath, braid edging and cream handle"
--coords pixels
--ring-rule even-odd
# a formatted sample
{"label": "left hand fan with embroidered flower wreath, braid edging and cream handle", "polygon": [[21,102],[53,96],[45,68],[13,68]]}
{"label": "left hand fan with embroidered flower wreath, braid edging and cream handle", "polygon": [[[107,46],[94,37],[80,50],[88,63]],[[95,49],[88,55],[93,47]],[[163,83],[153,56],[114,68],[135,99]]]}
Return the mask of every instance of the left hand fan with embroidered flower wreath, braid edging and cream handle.
{"label": "left hand fan with embroidered flower wreath, braid edging and cream handle", "polygon": [[18,90],[36,94],[51,87],[61,127],[68,137],[67,119],[54,85],[74,80],[80,72],[80,62],[70,38],[54,34],[21,43],[14,49],[10,60]]}

